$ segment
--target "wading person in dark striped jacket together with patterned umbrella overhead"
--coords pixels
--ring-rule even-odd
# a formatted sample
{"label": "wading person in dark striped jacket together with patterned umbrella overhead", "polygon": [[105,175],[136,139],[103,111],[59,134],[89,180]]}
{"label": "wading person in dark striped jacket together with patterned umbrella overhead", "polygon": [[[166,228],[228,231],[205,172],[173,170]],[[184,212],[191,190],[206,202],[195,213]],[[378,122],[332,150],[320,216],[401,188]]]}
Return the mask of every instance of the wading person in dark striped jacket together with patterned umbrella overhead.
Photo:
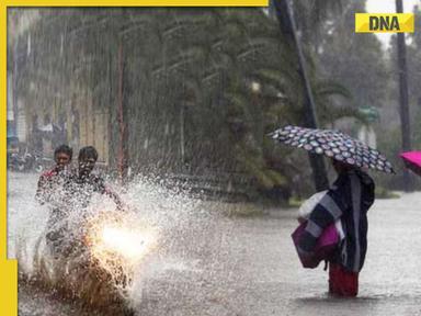
{"label": "wading person in dark striped jacket together with patterned umbrella overhead", "polygon": [[286,126],[271,134],[278,142],[329,157],[337,180],[311,212],[297,250],[311,257],[323,229],[341,221],[344,239],[329,258],[329,293],[356,296],[359,273],[367,250],[367,211],[374,202],[374,181],[363,169],[394,172],[377,150],[331,129]]}

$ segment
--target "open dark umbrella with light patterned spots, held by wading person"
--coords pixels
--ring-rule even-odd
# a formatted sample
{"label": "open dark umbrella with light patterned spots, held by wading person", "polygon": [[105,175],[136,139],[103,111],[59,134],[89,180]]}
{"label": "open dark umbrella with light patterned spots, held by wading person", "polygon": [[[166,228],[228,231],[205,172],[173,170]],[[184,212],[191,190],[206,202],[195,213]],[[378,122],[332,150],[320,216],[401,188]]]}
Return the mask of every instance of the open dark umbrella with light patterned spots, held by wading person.
{"label": "open dark umbrella with light patterned spots, held by wading person", "polygon": [[385,156],[339,131],[288,125],[276,129],[270,136],[280,143],[325,155],[352,166],[395,173]]}

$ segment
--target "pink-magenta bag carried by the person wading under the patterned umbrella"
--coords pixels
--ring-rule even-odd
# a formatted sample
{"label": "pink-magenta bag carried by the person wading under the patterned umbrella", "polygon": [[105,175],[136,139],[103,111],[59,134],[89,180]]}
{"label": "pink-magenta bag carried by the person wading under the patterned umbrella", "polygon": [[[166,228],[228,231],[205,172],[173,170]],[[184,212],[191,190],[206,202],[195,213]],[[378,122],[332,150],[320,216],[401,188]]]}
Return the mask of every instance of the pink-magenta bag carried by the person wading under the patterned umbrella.
{"label": "pink-magenta bag carried by the person wading under the patterned umbrella", "polygon": [[329,225],[321,233],[319,239],[317,240],[314,255],[311,257],[303,256],[298,251],[298,241],[303,236],[303,233],[306,228],[307,222],[301,223],[297,229],[291,235],[294,241],[294,246],[297,250],[298,258],[301,261],[304,268],[316,268],[319,266],[320,261],[328,260],[332,255],[334,249],[338,247],[340,241],[340,236],[334,224]]}

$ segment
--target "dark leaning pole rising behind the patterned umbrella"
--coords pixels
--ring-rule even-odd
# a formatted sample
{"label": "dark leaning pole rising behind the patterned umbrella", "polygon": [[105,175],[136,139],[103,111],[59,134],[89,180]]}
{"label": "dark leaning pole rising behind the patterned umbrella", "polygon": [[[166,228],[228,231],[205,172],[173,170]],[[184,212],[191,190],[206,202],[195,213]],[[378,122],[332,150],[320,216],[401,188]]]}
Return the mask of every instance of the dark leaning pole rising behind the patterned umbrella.
{"label": "dark leaning pole rising behind the patterned umbrella", "polygon": [[[293,9],[291,8],[289,0],[274,0],[275,12],[277,21],[280,23],[281,32],[289,37],[291,43],[295,46],[298,55],[298,74],[304,83],[304,122],[306,127],[318,128],[315,100],[312,98],[312,91],[308,74],[306,71],[306,65],[303,54],[303,48],[297,36],[297,30],[295,25]],[[312,177],[317,191],[328,189],[329,180],[326,171],[325,160],[322,156],[316,154],[308,154],[309,161],[312,170]]]}

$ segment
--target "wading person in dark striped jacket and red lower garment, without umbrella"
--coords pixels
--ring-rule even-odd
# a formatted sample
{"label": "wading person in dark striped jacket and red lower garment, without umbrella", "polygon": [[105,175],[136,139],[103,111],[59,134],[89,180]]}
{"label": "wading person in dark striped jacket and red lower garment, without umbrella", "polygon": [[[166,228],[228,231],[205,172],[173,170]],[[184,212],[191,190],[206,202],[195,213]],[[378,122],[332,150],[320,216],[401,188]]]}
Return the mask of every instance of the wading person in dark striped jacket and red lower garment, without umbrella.
{"label": "wading person in dark striped jacket and red lower garment, without umbrella", "polygon": [[344,239],[329,258],[329,293],[356,296],[359,273],[367,251],[367,211],[374,202],[374,181],[356,167],[332,160],[338,179],[311,212],[298,248],[311,256],[326,227],[340,219]]}

